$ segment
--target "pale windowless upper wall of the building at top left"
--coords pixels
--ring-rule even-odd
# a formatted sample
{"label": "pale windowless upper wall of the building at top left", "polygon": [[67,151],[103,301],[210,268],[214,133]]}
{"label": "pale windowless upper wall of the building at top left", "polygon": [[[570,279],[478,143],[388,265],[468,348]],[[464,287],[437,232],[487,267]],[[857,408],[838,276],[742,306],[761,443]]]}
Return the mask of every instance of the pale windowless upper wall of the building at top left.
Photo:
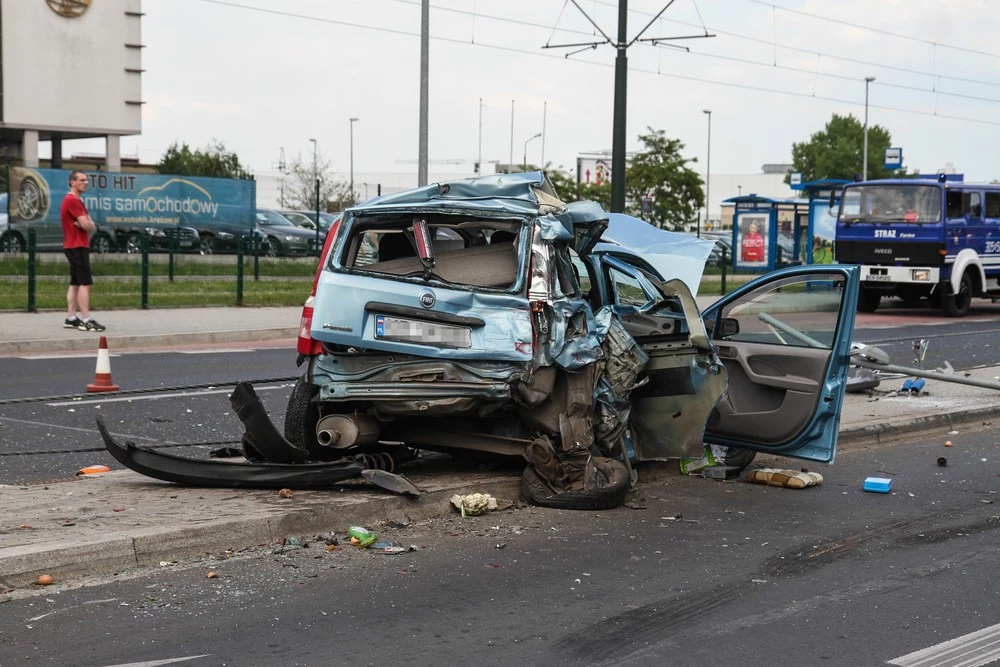
{"label": "pale windowless upper wall of the building at top left", "polygon": [[0,12],[3,126],[142,131],[141,0],[94,0],[72,18],[42,0],[3,2]]}

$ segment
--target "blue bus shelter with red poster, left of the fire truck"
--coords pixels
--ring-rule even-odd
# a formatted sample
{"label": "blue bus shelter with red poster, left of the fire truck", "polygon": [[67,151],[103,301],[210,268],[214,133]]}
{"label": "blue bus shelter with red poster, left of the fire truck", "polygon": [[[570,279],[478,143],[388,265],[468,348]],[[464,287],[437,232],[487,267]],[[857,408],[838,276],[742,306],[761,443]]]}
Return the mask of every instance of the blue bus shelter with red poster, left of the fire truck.
{"label": "blue bus shelter with red poster, left of the fire truck", "polygon": [[773,271],[790,264],[809,263],[809,200],[730,197],[733,205],[733,271]]}

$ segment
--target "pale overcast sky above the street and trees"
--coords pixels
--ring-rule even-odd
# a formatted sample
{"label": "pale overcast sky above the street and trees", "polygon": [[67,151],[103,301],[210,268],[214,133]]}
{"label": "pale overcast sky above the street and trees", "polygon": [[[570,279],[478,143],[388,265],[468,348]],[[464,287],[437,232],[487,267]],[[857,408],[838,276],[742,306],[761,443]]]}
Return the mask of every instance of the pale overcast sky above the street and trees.
{"label": "pale overcast sky above the street and trees", "polygon": [[[667,0],[632,0],[631,39]],[[578,0],[614,38],[617,3]],[[954,163],[967,178],[1000,178],[1000,2],[990,0],[675,0],[629,49],[629,149],[647,126],[686,144],[704,170],[712,110],[712,172],[757,173],[790,161],[832,113],[864,114],[892,133],[910,168]],[[484,161],[522,159],[541,132],[544,157],[575,165],[611,148],[614,59],[609,45],[564,0],[431,0],[432,172],[471,172]],[[257,9],[254,9],[257,8]],[[261,9],[265,11],[260,11]],[[349,118],[356,172],[416,171],[419,0],[144,0],[143,133],[123,153],[156,162],[171,142],[214,139],[251,169],[312,158],[310,137],[334,170],[348,169]],[[699,13],[700,12],[700,13]],[[954,48],[960,47],[960,48]],[[94,72],[94,76],[100,76]],[[101,150],[72,142],[69,151]],[[528,144],[540,162],[542,140]]]}

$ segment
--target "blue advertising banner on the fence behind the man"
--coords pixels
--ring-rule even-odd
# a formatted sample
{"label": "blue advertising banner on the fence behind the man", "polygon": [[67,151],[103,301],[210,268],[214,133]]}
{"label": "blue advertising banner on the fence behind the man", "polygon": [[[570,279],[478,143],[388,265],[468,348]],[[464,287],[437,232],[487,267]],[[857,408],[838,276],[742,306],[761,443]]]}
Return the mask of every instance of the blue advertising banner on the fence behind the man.
{"label": "blue advertising banner on the fence behind the man", "polygon": [[[15,223],[59,224],[69,191],[68,169],[11,167],[10,218]],[[256,213],[256,183],[225,178],[87,172],[83,202],[99,226],[211,226],[250,228]]]}

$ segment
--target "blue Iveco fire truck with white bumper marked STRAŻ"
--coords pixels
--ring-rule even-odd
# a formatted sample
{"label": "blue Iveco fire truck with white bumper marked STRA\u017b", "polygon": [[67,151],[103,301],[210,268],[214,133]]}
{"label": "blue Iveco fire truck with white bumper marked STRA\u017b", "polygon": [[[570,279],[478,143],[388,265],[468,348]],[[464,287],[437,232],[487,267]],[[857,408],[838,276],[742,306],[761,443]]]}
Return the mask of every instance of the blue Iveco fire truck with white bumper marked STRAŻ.
{"label": "blue Iveco fire truck with white bumper marked STRA\u017b", "polygon": [[1000,298],[1000,184],[892,179],[846,185],[836,258],[861,266],[858,310],[928,299],[951,317]]}

